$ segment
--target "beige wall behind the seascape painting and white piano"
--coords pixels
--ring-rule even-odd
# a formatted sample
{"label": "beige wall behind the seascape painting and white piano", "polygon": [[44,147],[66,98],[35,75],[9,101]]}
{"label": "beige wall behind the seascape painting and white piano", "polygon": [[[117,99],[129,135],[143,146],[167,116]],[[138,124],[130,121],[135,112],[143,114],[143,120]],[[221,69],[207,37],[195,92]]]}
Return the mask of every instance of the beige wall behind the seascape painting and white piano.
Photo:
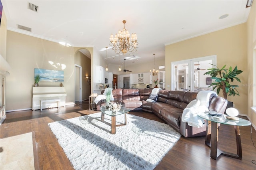
{"label": "beige wall behind the seascape painting and white piano", "polygon": [[[66,103],[74,102],[74,48],[7,31],[6,61],[12,70],[6,79],[6,110],[32,108],[34,68],[62,70],[48,61],[66,65],[63,85]],[[57,82],[40,81],[40,86],[59,86]]]}

